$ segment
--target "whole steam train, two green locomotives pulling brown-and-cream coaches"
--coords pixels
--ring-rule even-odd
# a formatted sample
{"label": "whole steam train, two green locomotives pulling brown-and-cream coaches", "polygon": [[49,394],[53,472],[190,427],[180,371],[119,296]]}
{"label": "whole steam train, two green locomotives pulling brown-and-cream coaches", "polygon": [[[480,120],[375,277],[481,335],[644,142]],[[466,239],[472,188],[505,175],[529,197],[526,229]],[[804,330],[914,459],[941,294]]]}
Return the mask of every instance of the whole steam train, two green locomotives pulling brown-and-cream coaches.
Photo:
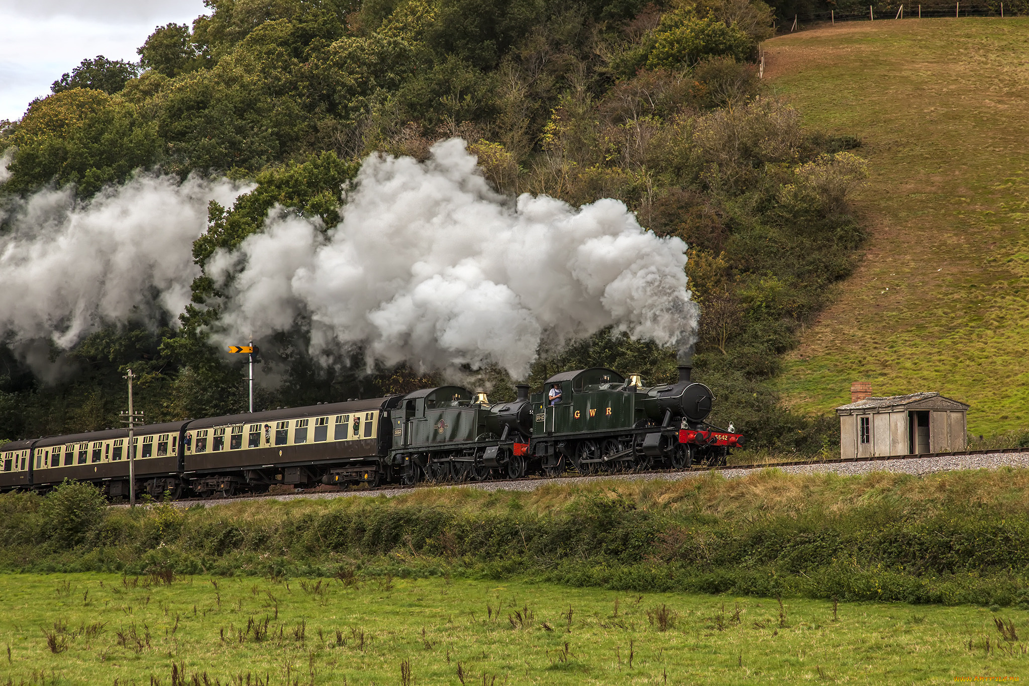
{"label": "whole steam train, two green locomotives pulling brown-and-cream coaches", "polygon": [[[713,396],[679,367],[645,387],[595,367],[565,371],[510,402],[458,386],[386,398],[230,414],[12,441],[0,446],[0,491],[45,492],[65,478],[112,499],[312,488],[468,481],[723,463],[743,436],[708,425]],[[556,398],[551,399],[551,390]],[[129,452],[135,452],[130,486]]]}

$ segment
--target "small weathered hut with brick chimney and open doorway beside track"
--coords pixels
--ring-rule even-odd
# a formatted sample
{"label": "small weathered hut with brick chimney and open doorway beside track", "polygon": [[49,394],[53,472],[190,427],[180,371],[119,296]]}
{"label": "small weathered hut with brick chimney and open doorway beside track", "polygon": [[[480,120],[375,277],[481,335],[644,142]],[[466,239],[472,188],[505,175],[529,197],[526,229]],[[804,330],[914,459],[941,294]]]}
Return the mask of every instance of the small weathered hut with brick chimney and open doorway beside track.
{"label": "small weathered hut with brick chimney and open doorway beside track", "polygon": [[968,405],[938,393],[873,396],[836,409],[844,459],[967,449]]}

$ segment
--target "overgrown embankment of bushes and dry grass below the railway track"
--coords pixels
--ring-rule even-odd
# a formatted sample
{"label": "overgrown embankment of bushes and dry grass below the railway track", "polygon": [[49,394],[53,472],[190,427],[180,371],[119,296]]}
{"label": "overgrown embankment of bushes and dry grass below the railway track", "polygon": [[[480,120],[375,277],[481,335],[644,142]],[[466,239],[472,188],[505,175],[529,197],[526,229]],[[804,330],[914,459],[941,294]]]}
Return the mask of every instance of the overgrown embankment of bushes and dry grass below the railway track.
{"label": "overgrown embankment of bushes and dry grass below the railway track", "polygon": [[883,461],[867,473],[829,463],[135,510],[69,484],[0,497],[0,568],[451,575],[1029,609],[1029,470],[999,454],[964,456],[965,467],[990,468],[926,471],[948,459]]}

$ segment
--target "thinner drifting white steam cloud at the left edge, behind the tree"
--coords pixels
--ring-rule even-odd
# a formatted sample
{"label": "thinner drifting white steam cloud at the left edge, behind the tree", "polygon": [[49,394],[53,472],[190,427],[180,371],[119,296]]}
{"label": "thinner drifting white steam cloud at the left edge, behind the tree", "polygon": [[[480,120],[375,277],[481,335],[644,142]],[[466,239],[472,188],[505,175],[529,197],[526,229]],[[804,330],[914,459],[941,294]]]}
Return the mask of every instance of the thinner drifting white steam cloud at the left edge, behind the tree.
{"label": "thinner drifting white steam cloud at the left edge, behind the tree", "polygon": [[0,214],[8,225],[0,234],[0,336],[68,348],[104,323],[152,321],[158,310],[174,317],[200,274],[191,246],[207,227],[208,202],[232,205],[247,190],[141,176],[86,204],[70,190],[43,190],[8,209]]}

